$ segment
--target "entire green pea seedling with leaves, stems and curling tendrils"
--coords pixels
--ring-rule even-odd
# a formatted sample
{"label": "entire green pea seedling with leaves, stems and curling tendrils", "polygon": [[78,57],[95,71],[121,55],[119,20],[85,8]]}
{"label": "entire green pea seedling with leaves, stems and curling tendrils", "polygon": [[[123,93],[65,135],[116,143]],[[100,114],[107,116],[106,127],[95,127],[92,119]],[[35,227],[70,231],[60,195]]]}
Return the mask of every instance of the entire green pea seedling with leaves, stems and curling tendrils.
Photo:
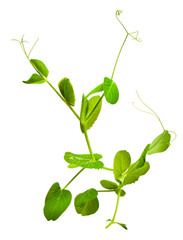
{"label": "entire green pea seedling with leaves, stems and curling tendrils", "polygon": [[75,106],[76,98],[71,81],[66,77],[62,78],[62,80],[60,80],[58,83],[57,90],[48,80],[49,70],[47,69],[46,65],[41,60],[30,59],[30,54],[32,53],[32,50],[38,40],[35,42],[29,53],[27,53],[25,49],[26,41],[24,41],[24,36],[20,41],[16,40],[19,42],[26,58],[35,70],[31,77],[23,82],[26,84],[48,84],[54,90],[59,98],[72,111],[74,116],[77,118],[77,121],[79,121],[81,132],[86,139],[89,150],[88,153],[84,154],[66,152],[63,156],[63,159],[68,163],[68,167],[70,169],[80,169],[78,173],[74,175],[73,178],[63,188],[61,188],[60,184],[56,182],[49,189],[45,198],[44,205],[44,216],[48,221],[57,220],[67,210],[72,200],[72,194],[67,188],[85,169],[93,169],[93,171],[97,169],[101,172],[102,170],[106,170],[109,171],[109,173],[113,173],[114,182],[103,179],[100,181],[100,184],[103,187],[102,190],[90,188],[83,193],[79,193],[74,199],[75,210],[82,216],[94,214],[99,209],[99,193],[114,193],[114,196],[117,195],[116,207],[112,219],[107,220],[109,223],[106,228],[112,224],[117,224],[127,230],[126,224],[115,221],[120,198],[124,197],[126,194],[126,191],[123,188],[128,184],[135,183],[141,176],[145,175],[149,171],[150,164],[146,161],[147,156],[164,152],[170,146],[170,132],[172,131],[165,130],[159,116],[155,113],[154,110],[152,110],[147,104],[142,101],[139,94],[137,93],[141,103],[149,109],[149,112],[143,111],[141,109],[139,110],[153,114],[161,124],[163,132],[160,133],[160,135],[158,135],[151,143],[149,142],[146,145],[140,157],[137,158],[137,161],[133,163],[131,162],[131,156],[129,152],[126,150],[119,150],[116,153],[114,156],[112,168],[106,167],[104,165],[103,161],[101,161],[101,154],[93,153],[87,131],[91,129],[96,122],[101,112],[103,99],[106,99],[106,102],[111,105],[118,102],[119,90],[117,84],[113,80],[113,77],[121,51],[125,45],[126,40],[129,37],[138,42],[141,42],[141,39],[138,38],[138,31],[129,33],[122,22],[119,20],[119,15],[121,13],[122,11],[116,11],[116,18],[125,30],[126,36],[117,55],[111,78],[104,77],[103,82],[101,81],[97,87],[91,90],[88,94],[83,94],[80,114],[76,113],[73,108]]}

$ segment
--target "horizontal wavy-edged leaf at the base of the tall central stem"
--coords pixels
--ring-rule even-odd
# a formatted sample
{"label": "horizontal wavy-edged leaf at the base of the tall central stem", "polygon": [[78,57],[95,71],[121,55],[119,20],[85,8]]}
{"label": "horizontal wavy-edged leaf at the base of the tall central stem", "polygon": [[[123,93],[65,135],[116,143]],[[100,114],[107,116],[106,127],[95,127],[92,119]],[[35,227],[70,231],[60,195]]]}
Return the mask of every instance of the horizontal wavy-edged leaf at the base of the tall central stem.
{"label": "horizontal wavy-edged leaf at the base of the tall central stem", "polygon": [[100,154],[94,154],[95,160],[92,159],[90,154],[74,154],[71,152],[66,152],[64,155],[64,159],[67,163],[78,167],[83,168],[95,168],[100,169],[103,168],[104,164],[101,161],[98,161],[102,158]]}

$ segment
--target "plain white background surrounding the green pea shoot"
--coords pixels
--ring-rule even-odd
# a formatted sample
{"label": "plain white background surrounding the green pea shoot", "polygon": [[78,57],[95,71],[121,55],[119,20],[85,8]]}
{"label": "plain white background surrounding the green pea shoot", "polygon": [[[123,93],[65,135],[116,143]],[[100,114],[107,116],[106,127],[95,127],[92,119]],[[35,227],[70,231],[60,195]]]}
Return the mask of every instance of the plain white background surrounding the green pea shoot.
{"label": "plain white background surrounding the green pea shoot", "polygon": [[[0,4],[0,238],[19,239],[183,239],[182,234],[182,59],[183,14],[181,0],[67,0],[3,1]],[[177,133],[162,154],[148,156],[151,169],[125,188],[116,220],[126,223],[105,230],[112,218],[116,195],[100,194],[100,209],[89,217],[78,215],[73,201],[56,221],[43,215],[45,195],[54,182],[61,187],[78,169],[68,169],[66,151],[88,153],[79,123],[47,85],[26,85],[34,72],[17,42],[25,34],[30,49],[39,37],[32,58],[48,67],[57,87],[70,78],[79,113],[82,93],[110,77],[125,32],[139,30],[138,43],[127,40],[114,75],[119,102],[105,101],[101,114],[88,131],[94,152],[112,167],[118,150],[130,152],[132,161],[162,128],[151,115],[137,111],[142,99],[160,116],[168,130]],[[143,108],[144,109],[144,108]],[[173,137],[173,136],[172,136]],[[68,189],[74,196],[86,189],[101,189],[111,172],[85,170]]]}

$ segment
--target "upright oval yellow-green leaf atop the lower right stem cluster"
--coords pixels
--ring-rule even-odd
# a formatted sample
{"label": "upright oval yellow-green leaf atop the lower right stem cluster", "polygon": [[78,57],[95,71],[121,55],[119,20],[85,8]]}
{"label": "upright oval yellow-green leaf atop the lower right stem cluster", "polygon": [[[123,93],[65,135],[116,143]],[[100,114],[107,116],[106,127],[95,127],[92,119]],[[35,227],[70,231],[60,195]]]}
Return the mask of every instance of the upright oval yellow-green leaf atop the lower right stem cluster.
{"label": "upright oval yellow-green leaf atop the lower right stem cluster", "polygon": [[123,150],[116,153],[113,164],[115,179],[121,180],[122,173],[128,169],[130,163],[131,157],[127,151]]}

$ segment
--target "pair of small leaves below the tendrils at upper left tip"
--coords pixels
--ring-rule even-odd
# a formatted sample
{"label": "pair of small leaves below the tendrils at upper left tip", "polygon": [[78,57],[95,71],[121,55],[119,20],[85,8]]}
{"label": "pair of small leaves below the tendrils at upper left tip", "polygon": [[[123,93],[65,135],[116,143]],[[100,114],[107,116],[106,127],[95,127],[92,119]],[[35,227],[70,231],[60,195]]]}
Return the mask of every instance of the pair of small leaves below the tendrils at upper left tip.
{"label": "pair of small leaves below the tendrils at upper left tip", "polygon": [[41,84],[46,81],[46,78],[48,77],[49,71],[45,64],[37,59],[31,59],[30,63],[34,67],[34,69],[38,72],[38,74],[34,73],[27,81],[23,81],[27,84]]}

